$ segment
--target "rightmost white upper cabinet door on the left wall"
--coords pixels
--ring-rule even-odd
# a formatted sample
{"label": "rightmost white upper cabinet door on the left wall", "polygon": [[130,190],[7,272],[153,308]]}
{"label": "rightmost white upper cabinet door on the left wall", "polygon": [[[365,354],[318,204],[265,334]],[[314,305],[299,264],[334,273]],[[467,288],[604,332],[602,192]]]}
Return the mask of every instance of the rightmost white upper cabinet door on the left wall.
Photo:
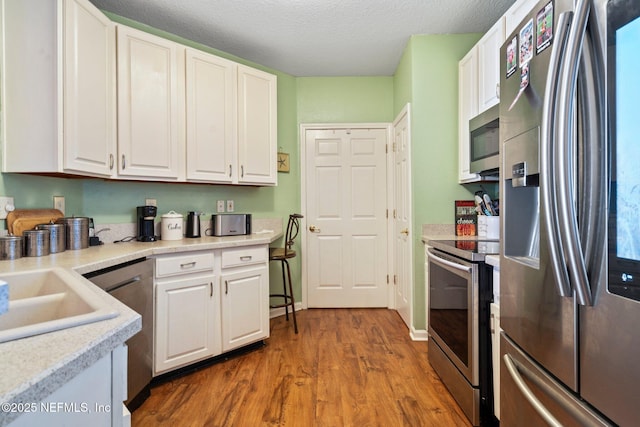
{"label": "rightmost white upper cabinet door on the left wall", "polygon": [[276,76],[238,65],[238,182],[276,185]]}

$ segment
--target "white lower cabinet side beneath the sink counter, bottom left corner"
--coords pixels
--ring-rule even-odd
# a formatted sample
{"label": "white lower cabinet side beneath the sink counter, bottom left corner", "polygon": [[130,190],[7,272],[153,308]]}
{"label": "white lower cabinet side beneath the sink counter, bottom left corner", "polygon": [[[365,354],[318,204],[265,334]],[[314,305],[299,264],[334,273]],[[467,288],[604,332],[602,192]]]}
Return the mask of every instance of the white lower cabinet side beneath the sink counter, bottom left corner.
{"label": "white lower cabinet side beneath the sink counter, bottom left corner", "polygon": [[11,427],[129,427],[127,346],[117,347],[9,423]]}

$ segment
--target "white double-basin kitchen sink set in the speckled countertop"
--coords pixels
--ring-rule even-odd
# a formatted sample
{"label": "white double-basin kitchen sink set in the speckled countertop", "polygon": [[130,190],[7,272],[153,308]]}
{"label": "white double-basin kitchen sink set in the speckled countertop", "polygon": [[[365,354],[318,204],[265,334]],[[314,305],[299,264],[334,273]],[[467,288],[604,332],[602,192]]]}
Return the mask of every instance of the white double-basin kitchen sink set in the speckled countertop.
{"label": "white double-basin kitchen sink set in the speckled countertop", "polygon": [[118,315],[83,278],[61,268],[7,273],[9,311],[0,315],[0,342],[44,334]]}

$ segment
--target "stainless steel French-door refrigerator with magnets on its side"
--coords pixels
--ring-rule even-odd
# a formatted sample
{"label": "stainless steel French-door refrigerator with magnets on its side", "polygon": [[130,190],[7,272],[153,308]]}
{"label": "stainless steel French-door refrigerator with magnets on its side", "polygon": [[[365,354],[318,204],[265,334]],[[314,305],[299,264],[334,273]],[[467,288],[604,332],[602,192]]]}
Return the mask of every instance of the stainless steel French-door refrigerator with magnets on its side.
{"label": "stainless steel French-door refrigerator with magnets on its side", "polygon": [[640,1],[542,1],[501,49],[503,426],[640,425]]}

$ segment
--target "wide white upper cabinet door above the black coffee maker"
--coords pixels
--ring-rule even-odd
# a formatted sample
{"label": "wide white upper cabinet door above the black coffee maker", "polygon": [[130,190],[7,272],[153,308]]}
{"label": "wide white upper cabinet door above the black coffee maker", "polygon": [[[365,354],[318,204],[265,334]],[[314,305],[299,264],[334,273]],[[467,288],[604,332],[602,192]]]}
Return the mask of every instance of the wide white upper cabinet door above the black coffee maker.
{"label": "wide white upper cabinet door above the black coffee maker", "polygon": [[118,174],[184,179],[184,47],[123,25],[118,36]]}

